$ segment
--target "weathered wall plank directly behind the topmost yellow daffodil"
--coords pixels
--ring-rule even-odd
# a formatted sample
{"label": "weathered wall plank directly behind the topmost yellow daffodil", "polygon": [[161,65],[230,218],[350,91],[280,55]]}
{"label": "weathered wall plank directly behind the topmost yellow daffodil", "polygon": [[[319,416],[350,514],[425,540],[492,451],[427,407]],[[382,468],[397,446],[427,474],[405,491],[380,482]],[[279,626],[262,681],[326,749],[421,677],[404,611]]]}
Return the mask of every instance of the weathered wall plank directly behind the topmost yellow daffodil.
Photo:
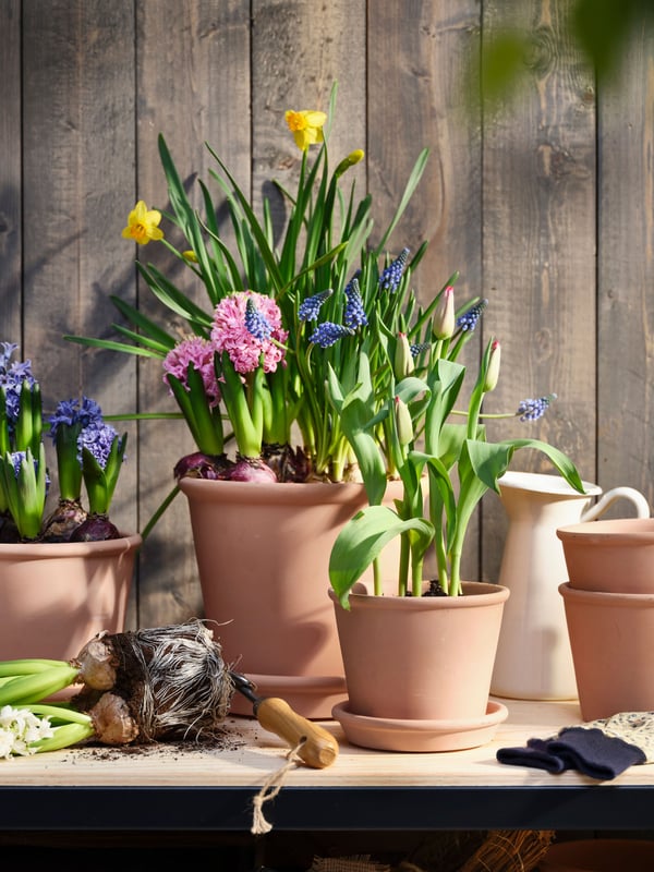
{"label": "weathered wall plank directly behind the topmost yellow daffodil", "polygon": [[[294,190],[302,157],[284,121],[287,109],[328,111],[337,82],[330,165],[365,149],[365,7],[363,0],[252,4],[252,196],[258,215],[264,196],[269,197],[276,226],[283,227],[284,208],[270,180]],[[365,167],[348,177],[363,196]]]}

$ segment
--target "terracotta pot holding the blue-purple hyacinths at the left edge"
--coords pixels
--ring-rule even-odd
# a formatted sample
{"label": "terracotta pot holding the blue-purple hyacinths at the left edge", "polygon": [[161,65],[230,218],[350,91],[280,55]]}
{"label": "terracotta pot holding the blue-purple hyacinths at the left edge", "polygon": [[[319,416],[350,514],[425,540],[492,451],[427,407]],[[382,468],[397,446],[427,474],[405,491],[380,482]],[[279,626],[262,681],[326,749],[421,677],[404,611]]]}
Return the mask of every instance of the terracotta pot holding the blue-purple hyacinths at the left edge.
{"label": "terracotta pot holding the blue-purple hyacinths at the left edge", "polygon": [[70,659],[121,632],[141,541],[0,545],[0,659]]}

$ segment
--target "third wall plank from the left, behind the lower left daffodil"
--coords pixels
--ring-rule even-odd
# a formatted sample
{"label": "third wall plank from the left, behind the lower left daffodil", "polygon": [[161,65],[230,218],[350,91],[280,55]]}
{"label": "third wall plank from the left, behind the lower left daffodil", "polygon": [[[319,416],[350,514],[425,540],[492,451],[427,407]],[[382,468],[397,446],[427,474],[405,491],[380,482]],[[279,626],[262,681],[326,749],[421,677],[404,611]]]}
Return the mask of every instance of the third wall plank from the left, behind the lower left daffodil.
{"label": "third wall plank from the left, behind the lower left daffodil", "polygon": [[[157,137],[164,133],[179,172],[199,203],[195,175],[208,180],[213,162],[205,141],[225,158],[247,191],[250,178],[250,15],[240,0],[159,0],[138,3],[138,179],[137,195],[148,206],[166,208],[166,184]],[[210,183],[209,183],[209,186]],[[216,191],[215,186],[211,189]],[[133,203],[123,203],[123,211]],[[166,228],[165,228],[166,230]],[[173,242],[179,240],[173,239]],[[122,251],[129,262],[130,249]],[[164,268],[191,296],[205,304],[203,289],[173,267],[161,246],[138,252]],[[161,316],[147,288],[140,307]],[[172,320],[166,325],[179,331]],[[162,384],[158,361],[140,365],[143,412],[177,411]],[[146,523],[173,486],[172,470],[195,450],[181,421],[143,422],[140,437],[142,523]],[[178,496],[142,550],[140,621],[142,626],[185,620],[202,614],[195,553],[186,501]]]}

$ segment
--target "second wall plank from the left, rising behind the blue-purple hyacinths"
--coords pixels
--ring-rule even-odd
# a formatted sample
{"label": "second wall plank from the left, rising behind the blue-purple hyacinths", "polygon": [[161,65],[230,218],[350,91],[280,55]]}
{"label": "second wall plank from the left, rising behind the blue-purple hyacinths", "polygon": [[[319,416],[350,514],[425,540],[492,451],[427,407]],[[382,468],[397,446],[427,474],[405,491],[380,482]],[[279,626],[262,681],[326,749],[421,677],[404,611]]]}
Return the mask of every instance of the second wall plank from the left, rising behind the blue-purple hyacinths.
{"label": "second wall plank from the left, rising behind the blue-purple hyacinths", "polygon": [[[134,298],[117,226],[123,192],[133,190],[132,0],[53,0],[48,14],[25,0],[22,11],[24,350],[46,412],[82,393],[106,414],[133,412],[133,362],[62,338],[104,334],[112,317],[109,294]],[[136,429],[120,426],[130,433],[130,461],[111,514],[132,532]],[[53,451],[49,463],[55,469]]]}

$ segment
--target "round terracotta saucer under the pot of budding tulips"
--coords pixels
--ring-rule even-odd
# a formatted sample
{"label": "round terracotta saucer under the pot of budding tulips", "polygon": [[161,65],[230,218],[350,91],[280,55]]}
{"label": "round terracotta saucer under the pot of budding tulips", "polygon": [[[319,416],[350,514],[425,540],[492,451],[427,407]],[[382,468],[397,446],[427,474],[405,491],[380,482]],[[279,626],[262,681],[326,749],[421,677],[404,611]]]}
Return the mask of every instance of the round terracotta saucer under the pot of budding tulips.
{"label": "round terracotta saucer under the pot of budding tulips", "polygon": [[479,748],[491,741],[497,727],[508,717],[508,710],[496,701],[488,701],[486,714],[471,720],[399,720],[385,717],[356,715],[348,702],[331,710],[346,738],[352,744],[380,751],[461,751]]}

